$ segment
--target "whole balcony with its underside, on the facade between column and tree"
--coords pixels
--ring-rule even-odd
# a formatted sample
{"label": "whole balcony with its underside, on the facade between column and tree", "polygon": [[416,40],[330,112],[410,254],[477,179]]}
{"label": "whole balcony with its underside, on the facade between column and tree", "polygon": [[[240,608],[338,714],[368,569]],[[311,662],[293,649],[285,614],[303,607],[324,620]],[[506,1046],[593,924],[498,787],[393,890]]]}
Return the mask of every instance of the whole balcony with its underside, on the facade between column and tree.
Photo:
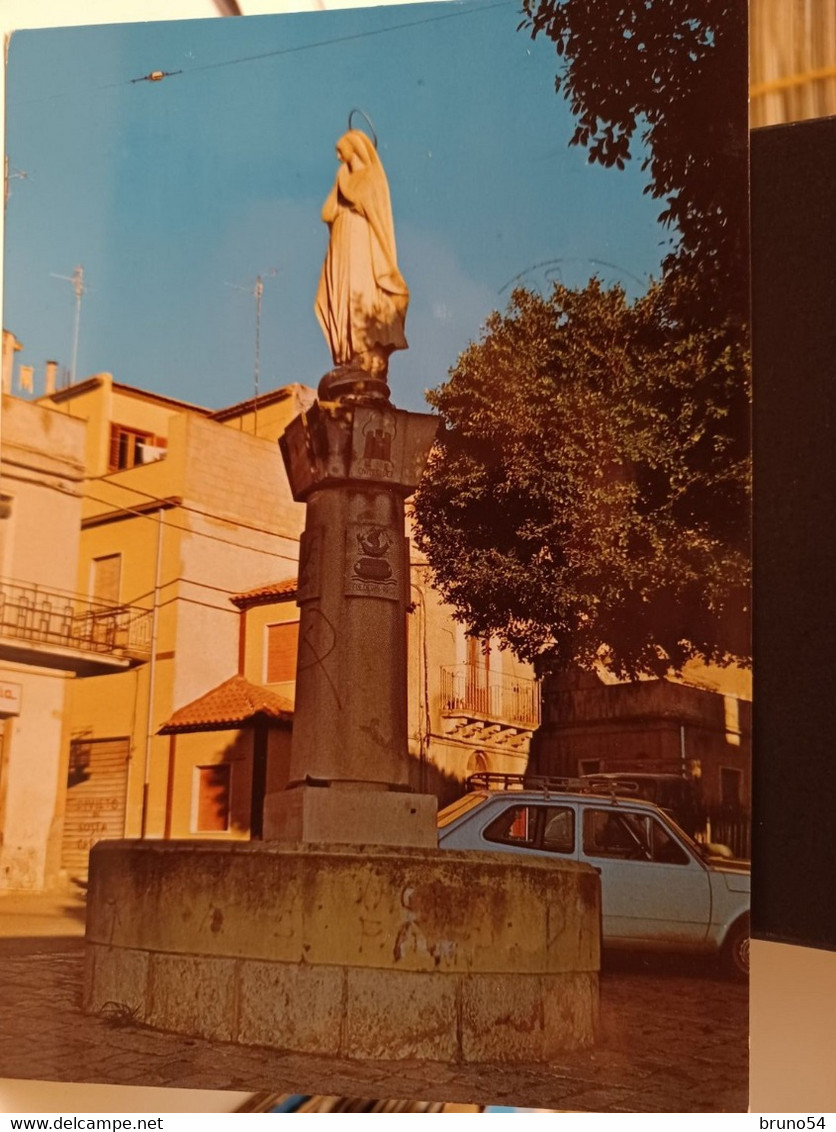
{"label": "whole balcony with its underside, on the facade between column and tree", "polygon": [[540,727],[540,684],[479,664],[442,668],[441,715],[448,735],[520,749]]}

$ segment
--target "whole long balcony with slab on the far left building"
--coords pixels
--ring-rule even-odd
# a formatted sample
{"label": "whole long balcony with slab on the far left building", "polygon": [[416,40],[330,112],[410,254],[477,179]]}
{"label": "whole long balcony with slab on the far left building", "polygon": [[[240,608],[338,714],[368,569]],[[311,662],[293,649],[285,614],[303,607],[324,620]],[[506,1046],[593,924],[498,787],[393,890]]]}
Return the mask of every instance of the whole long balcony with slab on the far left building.
{"label": "whole long balcony with slab on the far left building", "polygon": [[150,658],[152,611],[0,578],[0,655],[91,676]]}

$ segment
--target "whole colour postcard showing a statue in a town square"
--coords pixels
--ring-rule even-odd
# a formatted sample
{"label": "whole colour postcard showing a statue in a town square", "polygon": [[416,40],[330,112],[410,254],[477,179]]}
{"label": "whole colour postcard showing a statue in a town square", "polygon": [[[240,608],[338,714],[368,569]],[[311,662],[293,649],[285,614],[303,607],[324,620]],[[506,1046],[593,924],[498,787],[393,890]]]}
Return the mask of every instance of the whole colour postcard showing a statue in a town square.
{"label": "whole colour postcard showing a statue in a town square", "polygon": [[745,5],[6,97],[0,1077],[745,1112]]}

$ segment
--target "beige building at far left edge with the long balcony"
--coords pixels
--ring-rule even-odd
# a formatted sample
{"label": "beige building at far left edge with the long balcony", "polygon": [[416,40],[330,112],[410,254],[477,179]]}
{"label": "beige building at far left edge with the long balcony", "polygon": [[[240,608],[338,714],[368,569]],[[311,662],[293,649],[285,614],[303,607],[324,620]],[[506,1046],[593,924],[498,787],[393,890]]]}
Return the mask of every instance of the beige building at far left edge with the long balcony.
{"label": "beige building at far left edge with the long balcony", "polygon": [[[119,835],[124,799],[92,800],[70,765],[71,692],[131,680],[147,611],[79,592],[85,428],[2,398],[0,456],[0,889],[42,889],[94,835]],[[69,788],[67,783],[69,784]],[[86,856],[86,852],[85,852]]]}

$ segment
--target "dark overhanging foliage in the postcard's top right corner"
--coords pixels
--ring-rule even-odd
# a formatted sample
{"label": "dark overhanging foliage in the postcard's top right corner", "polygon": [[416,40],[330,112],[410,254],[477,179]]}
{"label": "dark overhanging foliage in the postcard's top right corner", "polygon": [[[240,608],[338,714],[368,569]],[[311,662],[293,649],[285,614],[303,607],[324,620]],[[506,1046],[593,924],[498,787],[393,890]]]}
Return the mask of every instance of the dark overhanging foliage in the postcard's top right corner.
{"label": "dark overhanging foliage in the postcard's top right corner", "polygon": [[646,143],[646,191],[678,235],[665,268],[698,281],[689,312],[745,324],[745,0],[524,0],[524,11],[560,58],[571,144],[623,169],[636,134]]}

